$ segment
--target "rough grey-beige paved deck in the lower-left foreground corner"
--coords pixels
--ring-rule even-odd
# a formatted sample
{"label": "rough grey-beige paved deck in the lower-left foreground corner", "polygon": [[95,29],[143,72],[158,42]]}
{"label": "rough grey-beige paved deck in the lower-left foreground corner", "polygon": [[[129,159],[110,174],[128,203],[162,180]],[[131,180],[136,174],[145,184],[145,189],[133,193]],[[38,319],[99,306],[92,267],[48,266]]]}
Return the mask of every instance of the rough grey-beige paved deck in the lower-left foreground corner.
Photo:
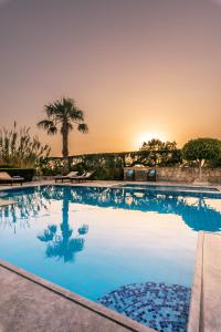
{"label": "rough grey-beige paved deck in the lower-left foreground corner", "polygon": [[0,261],[1,332],[151,332],[133,320]]}

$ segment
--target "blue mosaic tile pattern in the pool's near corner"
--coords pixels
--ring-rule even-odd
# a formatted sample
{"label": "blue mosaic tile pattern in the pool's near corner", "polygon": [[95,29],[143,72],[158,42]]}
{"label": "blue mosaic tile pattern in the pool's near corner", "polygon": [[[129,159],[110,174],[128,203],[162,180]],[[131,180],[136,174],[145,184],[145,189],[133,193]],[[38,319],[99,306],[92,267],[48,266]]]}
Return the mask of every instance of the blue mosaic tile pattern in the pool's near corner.
{"label": "blue mosaic tile pattern in the pool's near corner", "polygon": [[122,286],[98,302],[160,332],[187,331],[190,288],[180,284]]}

